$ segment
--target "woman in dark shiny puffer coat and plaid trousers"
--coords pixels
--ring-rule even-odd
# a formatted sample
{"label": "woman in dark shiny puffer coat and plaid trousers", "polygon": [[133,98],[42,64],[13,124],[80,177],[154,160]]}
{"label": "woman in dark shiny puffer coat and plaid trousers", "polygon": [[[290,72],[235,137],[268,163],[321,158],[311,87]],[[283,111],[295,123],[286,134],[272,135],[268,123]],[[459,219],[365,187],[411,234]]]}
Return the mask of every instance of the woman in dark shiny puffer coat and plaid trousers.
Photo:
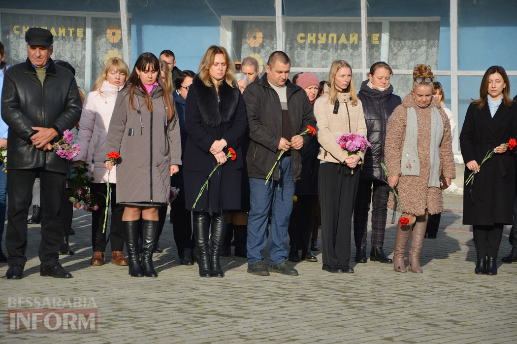
{"label": "woman in dark shiny puffer coat and plaid trousers", "polygon": [[368,141],[372,144],[364,155],[354,208],[354,238],[357,247],[355,261],[358,263],[367,262],[366,239],[370,202],[373,203],[370,260],[393,262],[383,250],[390,187],[384,182],[386,175],[381,167],[381,162],[384,162],[388,118],[402,102],[399,96],[393,94],[393,86],[389,83],[392,75],[388,64],[374,63],[370,68],[369,79],[362,82],[358,94],[368,129]]}

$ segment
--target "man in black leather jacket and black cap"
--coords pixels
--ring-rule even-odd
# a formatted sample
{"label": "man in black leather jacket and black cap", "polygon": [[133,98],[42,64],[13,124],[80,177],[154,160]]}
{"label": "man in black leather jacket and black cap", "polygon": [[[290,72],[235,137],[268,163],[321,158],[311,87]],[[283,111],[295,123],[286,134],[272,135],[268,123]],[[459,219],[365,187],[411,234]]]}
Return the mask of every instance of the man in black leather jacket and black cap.
{"label": "man in black leather jacket and black cap", "polygon": [[38,256],[41,276],[70,278],[58,262],[63,244],[60,208],[69,162],[59,157],[52,143],[71,129],[81,116],[81,99],[71,71],[52,62],[54,38],[33,27],[25,34],[27,61],[5,73],[2,118],[9,126],[7,149],[6,247],[8,279],[22,278],[27,262],[27,211],[34,179],[41,180],[42,226]]}

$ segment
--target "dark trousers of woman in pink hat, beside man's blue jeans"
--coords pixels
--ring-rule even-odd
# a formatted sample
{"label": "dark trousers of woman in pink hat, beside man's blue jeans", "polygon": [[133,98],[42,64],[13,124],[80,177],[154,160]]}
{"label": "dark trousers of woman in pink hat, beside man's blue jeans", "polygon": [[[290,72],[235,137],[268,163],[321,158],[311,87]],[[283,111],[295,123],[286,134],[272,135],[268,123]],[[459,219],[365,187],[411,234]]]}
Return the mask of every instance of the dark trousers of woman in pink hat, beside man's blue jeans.
{"label": "dark trousers of woman in pink hat, beside man's blue jeans", "polygon": [[299,249],[308,249],[312,237],[314,223],[314,207],[318,197],[313,195],[297,196],[298,201],[293,207],[289,221],[289,245],[296,245]]}

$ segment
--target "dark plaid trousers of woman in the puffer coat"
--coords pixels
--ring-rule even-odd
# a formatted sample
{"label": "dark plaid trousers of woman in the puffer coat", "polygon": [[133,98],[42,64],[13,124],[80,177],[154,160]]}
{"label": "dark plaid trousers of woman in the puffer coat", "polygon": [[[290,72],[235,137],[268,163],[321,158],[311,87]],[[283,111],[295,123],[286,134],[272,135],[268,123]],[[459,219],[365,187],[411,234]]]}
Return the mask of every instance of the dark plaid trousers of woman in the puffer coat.
{"label": "dark plaid trousers of woman in the puffer coat", "polygon": [[389,185],[382,181],[359,182],[354,207],[354,239],[356,247],[366,246],[370,202],[372,202],[372,246],[384,246],[390,191]]}

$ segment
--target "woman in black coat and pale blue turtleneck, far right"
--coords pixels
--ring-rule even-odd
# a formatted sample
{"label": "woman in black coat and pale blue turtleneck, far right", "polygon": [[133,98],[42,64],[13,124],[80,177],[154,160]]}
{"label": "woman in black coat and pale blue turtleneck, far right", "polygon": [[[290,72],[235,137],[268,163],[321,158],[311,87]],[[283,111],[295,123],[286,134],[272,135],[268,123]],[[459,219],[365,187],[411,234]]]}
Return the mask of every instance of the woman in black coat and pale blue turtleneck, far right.
{"label": "woman in black coat and pale blue turtleneck, far right", "polygon": [[[477,251],[476,274],[497,274],[497,252],[503,226],[513,221],[515,160],[508,143],[517,138],[517,106],[510,100],[510,82],[503,67],[492,66],[484,74],[480,98],[470,103],[460,134],[465,161],[465,181],[476,173],[463,191],[463,224],[472,225]],[[494,156],[481,163],[486,152]]]}

